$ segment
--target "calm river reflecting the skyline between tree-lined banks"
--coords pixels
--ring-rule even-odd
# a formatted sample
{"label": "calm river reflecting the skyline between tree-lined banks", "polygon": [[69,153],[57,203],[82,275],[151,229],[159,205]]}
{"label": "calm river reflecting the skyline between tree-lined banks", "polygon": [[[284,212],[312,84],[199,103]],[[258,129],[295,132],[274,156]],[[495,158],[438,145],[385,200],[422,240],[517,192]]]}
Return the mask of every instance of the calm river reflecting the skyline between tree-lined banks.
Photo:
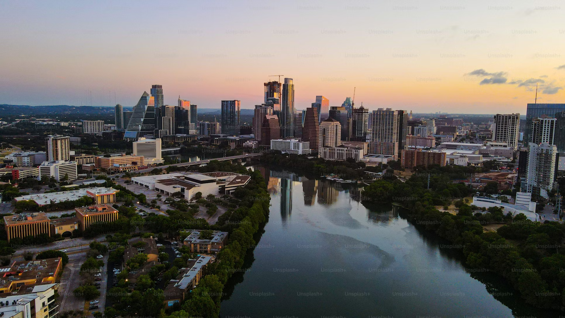
{"label": "calm river reflecting the skyline between tree-lined banks", "polygon": [[499,277],[466,269],[449,243],[357,186],[260,169],[271,212],[220,317],[557,317]]}

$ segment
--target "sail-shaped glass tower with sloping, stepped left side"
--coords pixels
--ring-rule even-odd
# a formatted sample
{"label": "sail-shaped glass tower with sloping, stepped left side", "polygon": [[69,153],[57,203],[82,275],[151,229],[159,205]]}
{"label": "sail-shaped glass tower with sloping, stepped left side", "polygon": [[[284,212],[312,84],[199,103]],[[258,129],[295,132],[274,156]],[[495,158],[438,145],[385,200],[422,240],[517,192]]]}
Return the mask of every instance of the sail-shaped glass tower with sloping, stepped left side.
{"label": "sail-shaped glass tower with sloping, stepped left side", "polygon": [[146,134],[153,135],[155,129],[155,98],[144,92],[136,106],[125,129],[125,140],[137,140]]}

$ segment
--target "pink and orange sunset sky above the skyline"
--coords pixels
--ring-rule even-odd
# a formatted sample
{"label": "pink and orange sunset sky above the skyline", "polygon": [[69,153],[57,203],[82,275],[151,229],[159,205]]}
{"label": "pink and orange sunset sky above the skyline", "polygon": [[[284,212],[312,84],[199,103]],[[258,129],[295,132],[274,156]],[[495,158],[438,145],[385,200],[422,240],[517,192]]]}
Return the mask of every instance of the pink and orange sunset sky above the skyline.
{"label": "pink and orange sunset sky above the skyline", "polygon": [[[263,102],[291,77],[316,95],[493,114],[565,103],[562,1],[2,1],[0,104]],[[114,98],[115,96],[115,98]]]}

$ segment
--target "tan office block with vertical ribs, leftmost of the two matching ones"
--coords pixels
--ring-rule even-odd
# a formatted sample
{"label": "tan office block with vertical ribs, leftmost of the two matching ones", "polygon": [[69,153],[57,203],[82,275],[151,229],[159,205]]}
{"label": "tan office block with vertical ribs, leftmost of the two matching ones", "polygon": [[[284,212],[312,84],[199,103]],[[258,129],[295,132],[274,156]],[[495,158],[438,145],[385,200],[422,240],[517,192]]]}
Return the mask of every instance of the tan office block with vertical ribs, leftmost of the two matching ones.
{"label": "tan office block with vertical ribs, leftmost of the two matching ones", "polygon": [[4,229],[6,230],[8,242],[15,237],[36,237],[40,234],[51,236],[49,217],[44,212],[5,216]]}

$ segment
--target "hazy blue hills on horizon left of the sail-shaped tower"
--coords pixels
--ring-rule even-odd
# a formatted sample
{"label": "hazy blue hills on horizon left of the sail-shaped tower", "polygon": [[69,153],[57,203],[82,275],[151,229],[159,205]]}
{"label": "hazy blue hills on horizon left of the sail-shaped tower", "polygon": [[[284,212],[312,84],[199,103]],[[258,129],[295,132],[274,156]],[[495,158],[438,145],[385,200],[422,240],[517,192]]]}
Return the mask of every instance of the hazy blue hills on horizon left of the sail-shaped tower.
{"label": "hazy blue hills on horizon left of the sail-shaped tower", "polygon": [[28,106],[28,105],[0,104],[0,114],[2,115],[53,115],[53,114],[99,115],[99,114],[114,114],[114,107],[69,106],[69,105]]}

